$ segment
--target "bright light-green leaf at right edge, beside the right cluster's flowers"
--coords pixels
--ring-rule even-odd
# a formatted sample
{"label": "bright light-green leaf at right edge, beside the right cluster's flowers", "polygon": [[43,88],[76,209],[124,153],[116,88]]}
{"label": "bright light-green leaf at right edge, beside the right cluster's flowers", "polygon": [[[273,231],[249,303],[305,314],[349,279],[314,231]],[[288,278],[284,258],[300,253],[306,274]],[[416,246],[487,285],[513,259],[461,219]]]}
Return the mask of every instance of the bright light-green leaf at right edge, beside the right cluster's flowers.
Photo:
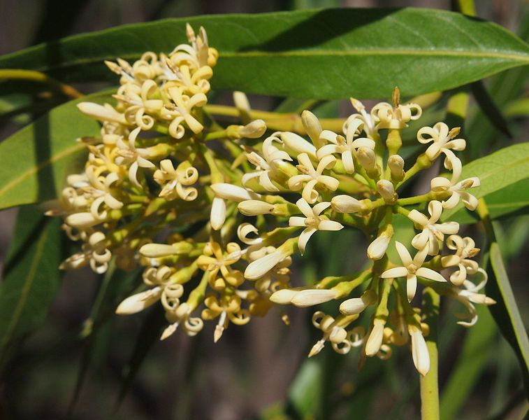
{"label": "bright light-green leaf at right edge, beside the right cluster's flowers", "polygon": [[[529,143],[515,144],[514,146],[502,148],[500,151],[492,153],[485,158],[470,162],[463,167],[461,179],[470,178],[471,176],[479,176],[481,181],[480,187],[470,190],[470,193],[477,198],[485,197],[488,194],[502,190],[502,188],[528,179]],[[527,205],[525,204],[527,197],[526,191],[522,197],[510,197],[509,202],[512,204],[519,202],[519,208],[523,208]],[[515,205],[513,204],[513,206]],[[509,211],[514,211],[513,206],[509,208]],[[463,209],[463,204],[460,202],[454,209],[444,211],[443,218],[445,220],[452,218],[461,209]]]}

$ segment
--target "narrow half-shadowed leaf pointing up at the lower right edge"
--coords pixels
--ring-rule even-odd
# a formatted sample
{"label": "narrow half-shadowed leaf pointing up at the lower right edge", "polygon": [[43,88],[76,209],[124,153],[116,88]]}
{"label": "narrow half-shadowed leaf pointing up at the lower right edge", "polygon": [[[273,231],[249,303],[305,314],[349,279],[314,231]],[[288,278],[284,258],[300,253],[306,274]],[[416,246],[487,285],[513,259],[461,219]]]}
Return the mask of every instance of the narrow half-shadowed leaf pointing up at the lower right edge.
{"label": "narrow half-shadowed leaf pointing up at the lower right edge", "polygon": [[529,395],[529,339],[514,299],[507,270],[503,264],[500,246],[497,242],[492,242],[489,248],[487,273],[489,278],[495,280],[489,281],[487,285],[487,295],[493,297],[497,302],[490,307],[491,314],[493,314],[500,332],[511,344],[519,358],[526,395]]}

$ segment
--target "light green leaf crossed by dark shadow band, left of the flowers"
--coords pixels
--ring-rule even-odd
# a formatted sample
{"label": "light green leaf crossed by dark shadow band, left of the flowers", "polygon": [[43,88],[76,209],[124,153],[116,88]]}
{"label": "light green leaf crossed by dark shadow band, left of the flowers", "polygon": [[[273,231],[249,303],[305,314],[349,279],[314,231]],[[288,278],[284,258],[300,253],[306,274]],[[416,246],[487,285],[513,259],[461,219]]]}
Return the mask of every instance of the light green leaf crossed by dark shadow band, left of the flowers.
{"label": "light green leaf crossed by dark shadow band, left of the flowers", "polygon": [[66,176],[82,167],[86,146],[76,139],[99,134],[99,123],[75,105],[108,99],[92,94],[57,106],[0,144],[0,209],[58,196]]}

